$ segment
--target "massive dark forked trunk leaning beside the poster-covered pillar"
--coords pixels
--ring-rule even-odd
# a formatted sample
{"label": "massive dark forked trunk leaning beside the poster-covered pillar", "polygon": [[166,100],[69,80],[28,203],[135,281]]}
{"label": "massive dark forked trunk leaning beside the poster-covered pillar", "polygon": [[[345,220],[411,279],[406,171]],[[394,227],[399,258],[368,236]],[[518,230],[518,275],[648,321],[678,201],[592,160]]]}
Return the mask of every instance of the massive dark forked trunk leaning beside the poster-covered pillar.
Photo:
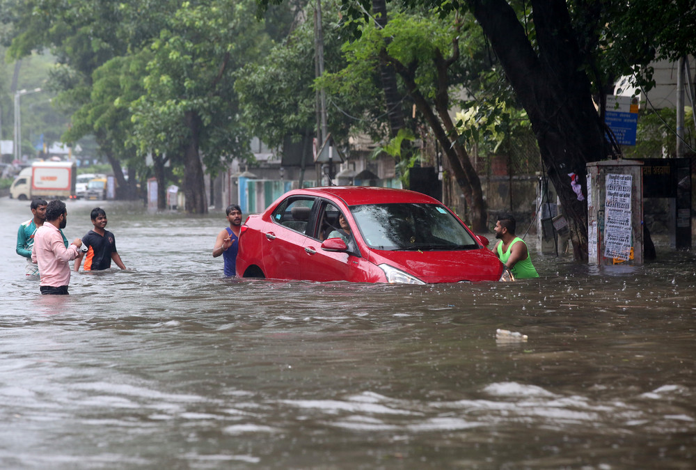
{"label": "massive dark forked trunk leaning beside the poster-covered pillar", "polygon": [[587,194],[586,164],[607,155],[590,80],[581,63],[567,5],[532,0],[538,52],[505,0],[468,0],[534,130],[546,173],[569,219],[576,260],[587,260],[587,203],[578,201],[569,173]]}

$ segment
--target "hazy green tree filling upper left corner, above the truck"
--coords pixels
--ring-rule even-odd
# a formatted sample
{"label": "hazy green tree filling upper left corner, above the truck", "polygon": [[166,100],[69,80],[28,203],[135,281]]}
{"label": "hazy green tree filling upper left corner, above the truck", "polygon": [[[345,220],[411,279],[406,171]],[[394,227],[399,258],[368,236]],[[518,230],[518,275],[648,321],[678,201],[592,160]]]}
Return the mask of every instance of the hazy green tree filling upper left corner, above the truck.
{"label": "hazy green tree filling upper left corner, above the truck", "polygon": [[[104,86],[118,77],[98,75],[98,72],[95,75],[95,72],[111,59],[139,50],[142,42],[159,31],[159,25],[177,3],[177,0],[3,2],[8,10],[0,19],[7,26],[3,41],[10,45],[8,55],[19,59],[49,49],[56,56],[47,87],[58,92],[54,99],[56,107],[77,113],[73,128],[63,138],[74,143],[93,134],[98,152],[111,164],[120,188],[134,189],[136,185],[135,178],[125,178],[122,171],[122,162],[133,155],[129,151],[132,148],[124,146],[125,139],[119,129],[123,123],[118,121],[129,120],[129,116],[124,112],[109,112],[114,108],[105,101],[114,96],[108,91],[113,87]],[[95,79],[102,81],[100,89],[93,89]],[[105,115],[100,116],[101,113]],[[129,165],[129,169],[133,166]],[[132,190],[125,192],[134,194]]]}

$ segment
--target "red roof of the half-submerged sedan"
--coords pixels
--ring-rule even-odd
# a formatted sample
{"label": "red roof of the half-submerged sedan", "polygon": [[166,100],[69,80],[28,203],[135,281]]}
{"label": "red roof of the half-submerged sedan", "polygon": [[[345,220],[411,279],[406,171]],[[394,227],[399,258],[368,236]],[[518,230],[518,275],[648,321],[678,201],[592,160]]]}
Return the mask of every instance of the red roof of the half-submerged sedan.
{"label": "red roof of the half-submerged sedan", "polygon": [[[347,205],[387,203],[440,204],[436,199],[416,191],[373,186],[328,186],[295,189],[291,191],[291,193],[310,194],[313,196],[334,196],[342,199]],[[290,195],[290,193],[288,195]]]}

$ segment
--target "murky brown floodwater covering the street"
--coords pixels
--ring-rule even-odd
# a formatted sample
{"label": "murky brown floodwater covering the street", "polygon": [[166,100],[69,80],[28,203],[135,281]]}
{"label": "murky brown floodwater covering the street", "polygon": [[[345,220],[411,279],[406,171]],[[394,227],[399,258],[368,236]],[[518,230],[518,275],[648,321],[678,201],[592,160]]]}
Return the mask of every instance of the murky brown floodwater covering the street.
{"label": "murky brown floodwater covering the street", "polygon": [[[67,204],[73,240],[95,203]],[[42,296],[14,253],[29,203],[0,198],[2,469],[696,467],[693,254],[532,253],[541,278],[516,283],[239,281],[211,256],[223,214],[100,205],[129,270]]]}

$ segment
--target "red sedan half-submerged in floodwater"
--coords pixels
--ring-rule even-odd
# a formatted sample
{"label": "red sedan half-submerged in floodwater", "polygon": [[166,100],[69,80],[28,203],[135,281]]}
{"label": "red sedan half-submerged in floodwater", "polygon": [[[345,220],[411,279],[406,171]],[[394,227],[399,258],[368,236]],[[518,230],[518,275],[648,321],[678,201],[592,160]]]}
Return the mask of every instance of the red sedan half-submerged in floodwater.
{"label": "red sedan half-submerged in floodwater", "polygon": [[237,275],[307,281],[512,280],[485,237],[402,189],[294,189],[242,226]]}

